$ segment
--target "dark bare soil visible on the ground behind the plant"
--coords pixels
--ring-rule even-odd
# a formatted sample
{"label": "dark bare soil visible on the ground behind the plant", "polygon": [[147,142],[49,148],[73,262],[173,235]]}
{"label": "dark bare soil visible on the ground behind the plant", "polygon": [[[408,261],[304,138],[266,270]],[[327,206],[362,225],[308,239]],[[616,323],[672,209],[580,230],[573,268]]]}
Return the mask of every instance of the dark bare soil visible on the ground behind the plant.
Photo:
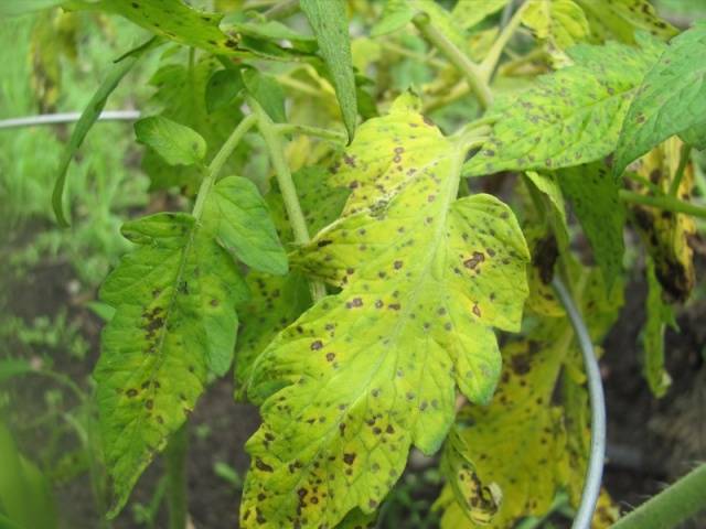
{"label": "dark bare soil visible on the ground behind the plant", "polygon": [[[72,295],[67,287],[71,281],[72,272],[67,264],[42,264],[14,283],[9,299],[15,300],[13,312],[26,320],[53,314],[61,306],[68,307],[69,320],[81,322],[90,352],[81,361],[66,352],[52,352],[54,365],[83,388],[88,388],[89,373],[98,356],[100,322],[77,303],[77,299],[93,293]],[[625,291],[627,302],[620,321],[603,344],[606,353],[601,359],[609,417],[609,461],[605,485],[624,509],[641,504],[697,461],[706,458],[706,366],[703,357],[706,302],[695,302],[684,309],[678,315],[680,331],[667,332],[667,368],[673,385],[668,393],[657,400],[640,375],[639,334],[644,320],[644,298],[645,284],[640,279],[632,280]],[[40,378],[15,386],[14,397],[22,402],[22,413],[28,417],[40,413],[44,402],[39,397],[50,387],[55,386]],[[234,402],[232,387],[228,377],[213,384],[192,415],[188,461],[189,512],[193,527],[199,529],[237,527],[239,492],[216,475],[214,465],[226,463],[240,477],[245,475],[248,458],[244,444],[256,430],[259,417],[256,408]],[[67,400],[66,406],[71,404],[72,401]],[[39,451],[46,442],[44,434],[36,429],[21,435],[23,452],[32,455]],[[64,450],[76,447],[71,435],[62,439]],[[132,503],[149,504],[161,473],[162,462],[158,458],[139,481]],[[64,518],[63,527],[100,527],[87,473],[62,483],[56,494]],[[432,501],[437,489],[426,487],[421,494]],[[154,527],[167,527],[165,510],[163,505]],[[114,527],[147,526],[138,525],[132,509],[128,507],[115,520]],[[706,521],[684,527],[706,527]]]}

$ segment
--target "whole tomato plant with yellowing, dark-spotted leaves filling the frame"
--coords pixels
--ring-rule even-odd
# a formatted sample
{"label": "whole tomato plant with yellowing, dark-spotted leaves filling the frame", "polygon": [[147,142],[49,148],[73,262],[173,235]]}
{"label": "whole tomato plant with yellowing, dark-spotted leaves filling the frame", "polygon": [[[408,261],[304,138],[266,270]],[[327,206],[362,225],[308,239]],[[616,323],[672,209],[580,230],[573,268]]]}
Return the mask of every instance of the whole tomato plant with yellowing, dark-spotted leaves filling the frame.
{"label": "whole tomato plant with yellowing, dark-spotted leaves filling the frame", "polygon": [[[637,234],[643,376],[664,393],[664,330],[694,289],[706,217],[691,162],[706,144],[706,25],[680,32],[648,0],[210,3],[2,8],[99,11],[151,34],[75,127],[63,225],[82,140],[161,54],[135,133],[152,188],[191,207],[126,222],[133,249],[100,289],[108,516],[157,454],[179,467],[189,414],[231,369],[263,419],[243,527],[373,527],[413,449],[441,454],[442,527],[514,527],[559,490],[578,507],[591,412],[553,284],[600,344]],[[607,527],[618,509],[598,501]]]}

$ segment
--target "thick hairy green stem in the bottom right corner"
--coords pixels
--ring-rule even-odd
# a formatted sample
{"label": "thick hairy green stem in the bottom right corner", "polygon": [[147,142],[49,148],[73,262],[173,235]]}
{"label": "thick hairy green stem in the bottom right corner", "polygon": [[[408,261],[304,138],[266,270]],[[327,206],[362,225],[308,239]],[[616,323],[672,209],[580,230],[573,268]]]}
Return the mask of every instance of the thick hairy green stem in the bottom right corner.
{"label": "thick hairy green stem in the bottom right corner", "polygon": [[613,529],[661,529],[677,527],[706,509],[706,464],[650,498],[635,510],[618,520]]}

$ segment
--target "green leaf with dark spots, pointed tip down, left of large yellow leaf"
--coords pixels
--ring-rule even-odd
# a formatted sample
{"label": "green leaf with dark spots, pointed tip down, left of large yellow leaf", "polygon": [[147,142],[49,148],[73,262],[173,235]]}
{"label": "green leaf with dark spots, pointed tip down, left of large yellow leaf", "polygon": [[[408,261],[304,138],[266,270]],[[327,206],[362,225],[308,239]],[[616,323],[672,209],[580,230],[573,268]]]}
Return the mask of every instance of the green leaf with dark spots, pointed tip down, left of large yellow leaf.
{"label": "green leaf with dark spots, pointed tip down, left of large yellow leaf", "polygon": [[[120,261],[100,290],[101,300],[116,312],[103,332],[103,352],[94,373],[114,486],[111,516],[125,505],[170,434],[183,424],[207,374],[223,375],[232,363],[235,306],[247,296],[237,264],[224,249],[235,245],[233,225],[243,222],[223,206],[222,195],[235,193],[234,180],[244,181],[220,182],[199,222],[183,213],[162,213],[122,228],[137,249]],[[257,191],[254,186],[248,191],[248,185],[243,184],[233,201],[256,202],[248,193]],[[248,222],[237,237],[267,240],[274,233],[260,218],[261,208],[252,207],[250,214],[265,224]],[[265,255],[279,261],[276,269],[284,262],[286,270],[281,248],[277,257]]]}

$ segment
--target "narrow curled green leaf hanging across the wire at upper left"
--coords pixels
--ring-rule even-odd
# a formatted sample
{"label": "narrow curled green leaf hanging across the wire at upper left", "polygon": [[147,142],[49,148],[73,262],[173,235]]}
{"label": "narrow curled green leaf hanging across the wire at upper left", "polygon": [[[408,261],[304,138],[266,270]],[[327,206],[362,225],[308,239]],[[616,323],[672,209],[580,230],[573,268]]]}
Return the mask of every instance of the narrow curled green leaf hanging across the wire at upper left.
{"label": "narrow curled green leaf hanging across the wire at upper left", "polygon": [[68,171],[68,165],[74,158],[74,154],[81,148],[81,144],[86,138],[86,134],[96,122],[104,107],[106,106],[106,101],[113,90],[120,84],[122,77],[127,75],[127,73],[132,69],[132,66],[137,63],[140,56],[151,50],[153,46],[158,45],[159,41],[152,39],[141,46],[133,50],[131,53],[125,56],[125,58],[117,64],[115,64],[110,71],[108,72],[106,78],[103,80],[98,90],[94,94],[88,101],[88,106],[84,109],[81,115],[81,118],[76,122],[74,127],[74,131],[71,134],[71,139],[68,140],[68,144],[66,145],[66,152],[62,158],[61,164],[58,166],[58,176],[56,177],[56,183],[54,184],[54,192],[52,193],[52,206],[54,208],[54,214],[56,215],[56,222],[61,226],[68,226],[68,220],[64,215],[64,187],[66,185],[66,172]]}

